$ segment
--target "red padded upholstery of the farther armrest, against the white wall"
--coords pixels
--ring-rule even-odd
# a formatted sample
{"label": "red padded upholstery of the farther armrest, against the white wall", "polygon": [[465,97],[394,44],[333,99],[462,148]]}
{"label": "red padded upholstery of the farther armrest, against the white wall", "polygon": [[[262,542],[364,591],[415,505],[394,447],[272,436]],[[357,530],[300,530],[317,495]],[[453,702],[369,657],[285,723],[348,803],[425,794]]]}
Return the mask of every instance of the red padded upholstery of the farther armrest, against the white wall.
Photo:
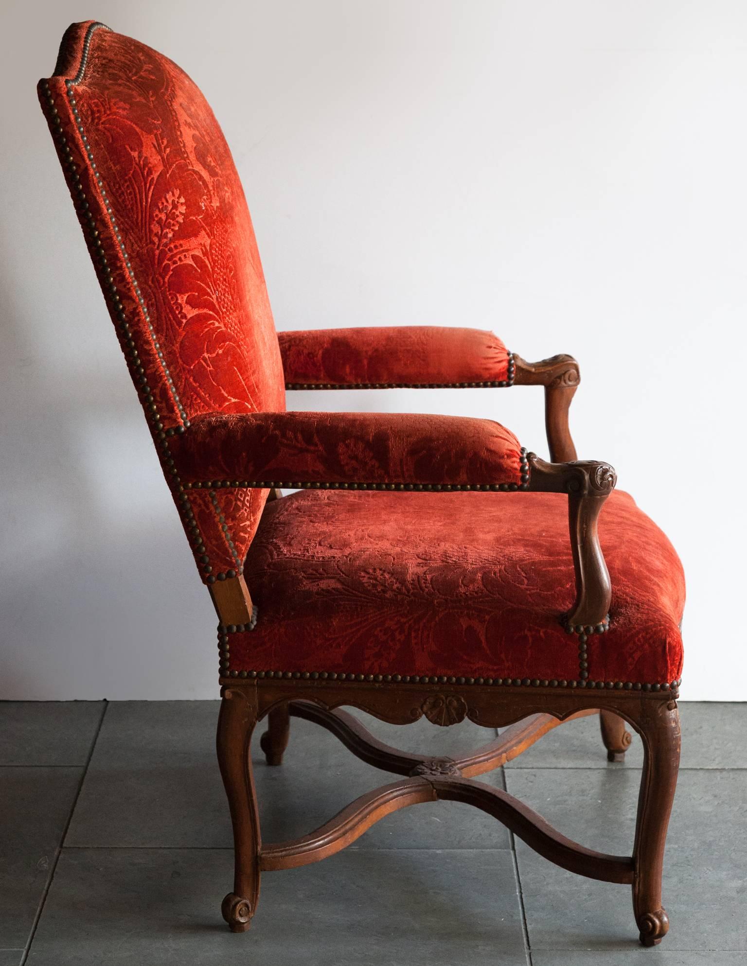
{"label": "red padded upholstery of the farther armrest, against the white wall", "polygon": [[477,328],[393,326],[279,332],[288,384],[450,385],[508,381],[508,352]]}

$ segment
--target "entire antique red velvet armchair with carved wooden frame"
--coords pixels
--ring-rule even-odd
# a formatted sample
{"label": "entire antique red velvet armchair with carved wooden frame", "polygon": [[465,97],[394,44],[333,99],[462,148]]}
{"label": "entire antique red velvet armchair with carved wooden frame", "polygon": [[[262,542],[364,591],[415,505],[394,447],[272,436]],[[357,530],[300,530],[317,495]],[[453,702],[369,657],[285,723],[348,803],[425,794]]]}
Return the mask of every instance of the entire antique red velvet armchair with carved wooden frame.
{"label": "entire antique red velvet armchair with carved wooden frame", "polygon": [[[661,868],[679,753],[682,571],[615,471],[578,462],[569,355],[491,332],[275,333],[228,147],[187,75],[73,24],[39,95],[158,459],[218,613],[217,750],[236,855],[223,916],[248,928],[262,871],[316,862],[388,812],[470,802],[558,865],[632,886],[641,940],[668,928]],[[286,389],[532,384],[552,462],[502,425],[286,412]],[[281,497],[281,489],[298,491]],[[383,746],[342,705],[407,724],[512,725],[462,759]],[[611,758],[643,739],[632,855],[572,842],[474,777],[601,711]],[[280,764],[290,717],[400,776],[297,841],[263,844],[249,740]],[[600,923],[600,928],[604,923]]]}

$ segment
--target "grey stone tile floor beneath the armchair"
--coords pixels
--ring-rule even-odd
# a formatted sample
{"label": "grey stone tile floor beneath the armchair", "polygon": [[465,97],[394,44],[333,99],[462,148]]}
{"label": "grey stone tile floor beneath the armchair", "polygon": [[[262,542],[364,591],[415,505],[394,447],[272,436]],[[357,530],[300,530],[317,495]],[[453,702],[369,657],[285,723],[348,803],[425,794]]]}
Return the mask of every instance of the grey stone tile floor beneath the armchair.
{"label": "grey stone tile floor beneath the armchair", "polygon": [[[629,889],[547,863],[467,806],[389,815],[314,866],[266,873],[251,930],[219,916],[231,885],[215,701],[0,703],[0,966],[736,966],[747,962],[745,704],[681,704],[683,753],[665,867],[670,934],[637,944]],[[465,724],[388,743],[454,753]],[[258,729],[259,731],[259,729]],[[298,720],[281,768],[255,752],[266,840],[293,838],[387,781]],[[560,831],[630,851],[642,754],[607,763],[593,718],[503,772]]]}

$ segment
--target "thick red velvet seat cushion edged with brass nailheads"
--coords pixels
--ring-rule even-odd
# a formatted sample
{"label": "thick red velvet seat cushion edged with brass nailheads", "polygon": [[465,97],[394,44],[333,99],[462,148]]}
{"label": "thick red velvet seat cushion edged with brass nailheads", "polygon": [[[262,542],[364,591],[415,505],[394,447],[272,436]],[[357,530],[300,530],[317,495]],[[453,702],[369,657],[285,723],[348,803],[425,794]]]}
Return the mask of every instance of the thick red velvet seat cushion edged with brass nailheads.
{"label": "thick red velvet seat cushion edged with brass nailheads", "polygon": [[561,622],[575,590],[567,497],[275,500],[244,568],[257,624],[229,628],[228,674],[669,686],[682,664],[675,550],[625,493],[607,500],[599,531],[613,601],[610,628],[589,636],[585,658]]}

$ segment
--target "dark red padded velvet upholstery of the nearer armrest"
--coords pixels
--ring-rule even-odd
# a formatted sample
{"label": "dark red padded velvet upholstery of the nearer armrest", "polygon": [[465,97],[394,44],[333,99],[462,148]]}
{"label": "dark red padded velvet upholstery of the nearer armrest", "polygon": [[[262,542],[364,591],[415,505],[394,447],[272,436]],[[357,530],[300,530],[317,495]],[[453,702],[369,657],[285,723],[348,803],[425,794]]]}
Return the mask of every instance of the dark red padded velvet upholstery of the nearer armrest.
{"label": "dark red padded velvet upholstery of the nearer armrest", "polygon": [[189,489],[526,488],[526,452],[500,423],[382,412],[196,416],[171,453]]}

